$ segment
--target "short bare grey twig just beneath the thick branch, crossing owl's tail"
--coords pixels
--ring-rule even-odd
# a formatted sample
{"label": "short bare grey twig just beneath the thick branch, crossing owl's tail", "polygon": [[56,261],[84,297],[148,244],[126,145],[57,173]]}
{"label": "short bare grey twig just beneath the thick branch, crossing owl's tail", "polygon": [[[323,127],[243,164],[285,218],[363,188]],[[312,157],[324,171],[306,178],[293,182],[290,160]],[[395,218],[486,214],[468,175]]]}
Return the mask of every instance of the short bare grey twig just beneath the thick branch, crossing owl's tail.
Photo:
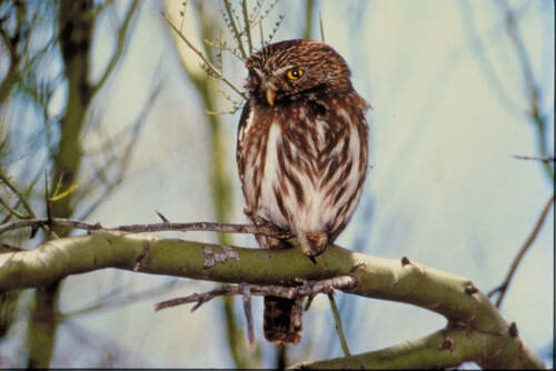
{"label": "short bare grey twig just beneath the thick branch, crossing owl's tail", "polygon": [[[177,307],[181,304],[196,303],[191,308],[191,312],[196,311],[201,304],[217,297],[230,297],[230,295],[242,295],[244,287],[246,284],[235,284],[235,285],[222,285],[218,289],[203,292],[193,293],[183,298],[176,298],[167,301],[159,302],[155,305],[155,310],[159,311],[161,309]],[[261,284],[248,284],[250,295],[256,297],[279,297],[286,299],[302,298],[309,295],[316,295],[317,293],[331,293],[334,289],[348,289],[356,285],[356,279],[351,275],[339,275],[331,279],[326,279],[321,281],[305,281],[298,287],[284,287],[284,285],[261,285]]]}

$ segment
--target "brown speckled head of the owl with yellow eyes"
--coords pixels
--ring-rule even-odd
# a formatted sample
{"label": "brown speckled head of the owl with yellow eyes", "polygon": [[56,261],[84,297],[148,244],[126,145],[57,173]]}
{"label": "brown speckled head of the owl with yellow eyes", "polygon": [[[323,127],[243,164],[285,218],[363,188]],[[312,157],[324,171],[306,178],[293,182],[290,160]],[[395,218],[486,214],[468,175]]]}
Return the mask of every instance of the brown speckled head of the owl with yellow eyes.
{"label": "brown speckled head of the owl with yellow eyes", "polygon": [[246,88],[261,103],[274,106],[351,89],[344,58],[324,42],[286,40],[251,54]]}

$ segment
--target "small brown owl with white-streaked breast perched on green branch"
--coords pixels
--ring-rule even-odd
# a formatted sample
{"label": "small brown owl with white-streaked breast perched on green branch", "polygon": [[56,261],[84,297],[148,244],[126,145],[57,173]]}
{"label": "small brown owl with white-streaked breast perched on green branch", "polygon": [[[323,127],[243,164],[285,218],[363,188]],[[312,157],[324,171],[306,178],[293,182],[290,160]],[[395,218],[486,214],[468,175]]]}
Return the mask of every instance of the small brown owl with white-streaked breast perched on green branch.
{"label": "small brown owl with white-streaked breast perched on green branch", "polygon": [[[311,40],[268,44],[246,60],[249,99],[241,112],[237,164],[255,224],[296,235],[314,262],[344,230],[367,173],[369,104],[331,47]],[[285,241],[256,235],[261,248]],[[265,297],[268,341],[301,339],[301,302]]]}

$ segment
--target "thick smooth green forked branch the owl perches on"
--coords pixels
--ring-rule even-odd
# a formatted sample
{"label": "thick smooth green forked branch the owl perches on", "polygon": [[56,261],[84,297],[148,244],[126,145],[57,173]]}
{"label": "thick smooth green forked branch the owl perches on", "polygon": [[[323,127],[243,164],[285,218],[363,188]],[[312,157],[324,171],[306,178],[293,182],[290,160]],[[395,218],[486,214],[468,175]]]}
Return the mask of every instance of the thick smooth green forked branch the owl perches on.
{"label": "thick smooth green forked branch the owl perches on", "polygon": [[[463,361],[475,361],[483,368],[545,367],[518,337],[515,323],[508,323],[468,279],[423,267],[407,258],[383,259],[330,245],[317,258],[315,265],[299,249],[224,248],[99,231],[48,241],[31,251],[0,254],[0,291],[41,287],[70,274],[102,268],[218,282],[279,285],[295,285],[299,279],[351,275],[357,284],[344,291],[431,310],[446,317],[448,327],[403,345],[316,362],[309,364],[311,368],[334,368],[338,364],[345,368],[359,364],[448,367]],[[386,357],[388,354],[390,357]],[[444,355],[437,363],[439,354]]]}

